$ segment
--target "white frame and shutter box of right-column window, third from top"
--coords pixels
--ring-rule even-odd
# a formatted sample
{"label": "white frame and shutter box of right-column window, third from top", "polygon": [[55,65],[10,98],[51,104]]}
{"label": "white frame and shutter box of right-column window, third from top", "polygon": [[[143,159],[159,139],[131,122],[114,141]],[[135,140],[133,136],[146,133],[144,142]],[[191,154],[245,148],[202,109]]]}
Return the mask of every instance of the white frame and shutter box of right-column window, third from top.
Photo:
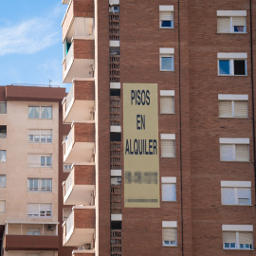
{"label": "white frame and shutter box of right-column window, third from top", "polygon": [[[219,94],[218,95],[218,101],[230,101],[231,102],[231,108],[232,108],[232,116],[229,118],[226,117],[220,117],[221,119],[247,119],[248,118],[248,95],[235,95],[235,94]],[[234,102],[235,101],[247,101],[247,117],[237,117],[235,115],[234,111]]]}

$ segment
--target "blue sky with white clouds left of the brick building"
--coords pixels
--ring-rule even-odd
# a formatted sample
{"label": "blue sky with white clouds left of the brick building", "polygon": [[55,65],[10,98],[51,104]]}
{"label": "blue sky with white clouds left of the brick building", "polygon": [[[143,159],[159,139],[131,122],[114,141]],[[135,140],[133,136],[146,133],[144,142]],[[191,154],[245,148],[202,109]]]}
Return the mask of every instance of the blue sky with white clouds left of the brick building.
{"label": "blue sky with white clouds left of the brick building", "polygon": [[0,9],[0,85],[63,83],[62,0],[7,0]]}

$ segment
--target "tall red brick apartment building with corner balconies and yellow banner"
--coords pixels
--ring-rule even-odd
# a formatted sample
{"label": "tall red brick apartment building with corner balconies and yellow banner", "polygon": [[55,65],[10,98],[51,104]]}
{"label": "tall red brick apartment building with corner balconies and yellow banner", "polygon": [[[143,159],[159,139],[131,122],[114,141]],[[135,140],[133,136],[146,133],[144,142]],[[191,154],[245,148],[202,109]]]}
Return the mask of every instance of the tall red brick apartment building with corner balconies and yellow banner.
{"label": "tall red brick apartment building with corner balconies and yellow banner", "polygon": [[255,3],[63,3],[64,247],[254,255]]}

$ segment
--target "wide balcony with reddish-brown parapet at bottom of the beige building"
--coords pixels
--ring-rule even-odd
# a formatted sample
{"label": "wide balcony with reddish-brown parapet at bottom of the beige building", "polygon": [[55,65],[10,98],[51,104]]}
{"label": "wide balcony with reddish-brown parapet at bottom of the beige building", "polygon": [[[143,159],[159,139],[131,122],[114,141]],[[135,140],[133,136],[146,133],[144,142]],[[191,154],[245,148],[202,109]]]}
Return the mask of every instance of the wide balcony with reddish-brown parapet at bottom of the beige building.
{"label": "wide balcony with reddish-brown parapet at bottom of the beige building", "polygon": [[6,250],[56,250],[59,247],[57,223],[7,222]]}

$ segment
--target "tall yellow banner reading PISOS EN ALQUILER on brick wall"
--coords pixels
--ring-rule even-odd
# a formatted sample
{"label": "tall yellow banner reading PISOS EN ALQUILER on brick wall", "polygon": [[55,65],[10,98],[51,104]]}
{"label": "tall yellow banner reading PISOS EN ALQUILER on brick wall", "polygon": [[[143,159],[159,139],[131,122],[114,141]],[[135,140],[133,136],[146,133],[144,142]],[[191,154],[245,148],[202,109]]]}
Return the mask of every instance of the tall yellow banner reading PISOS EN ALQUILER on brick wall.
{"label": "tall yellow banner reading PISOS EN ALQUILER on brick wall", "polygon": [[159,208],[156,83],[123,83],[124,207]]}

